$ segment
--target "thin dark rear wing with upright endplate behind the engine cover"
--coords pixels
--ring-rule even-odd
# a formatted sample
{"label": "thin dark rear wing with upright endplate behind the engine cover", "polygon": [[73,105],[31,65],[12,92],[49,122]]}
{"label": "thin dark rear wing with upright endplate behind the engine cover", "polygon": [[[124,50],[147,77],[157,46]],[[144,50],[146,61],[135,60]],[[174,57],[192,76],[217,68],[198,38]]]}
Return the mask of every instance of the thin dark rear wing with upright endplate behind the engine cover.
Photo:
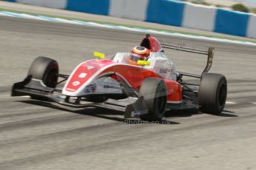
{"label": "thin dark rear wing with upright endplate behind the engine cover", "polygon": [[[197,54],[201,54],[201,55],[207,55],[207,64],[206,64],[206,68],[203,69],[202,75],[203,73],[209,72],[209,70],[211,69],[211,65],[213,62],[213,58],[214,58],[214,47],[209,47],[209,50],[200,50],[200,49],[196,49],[196,48],[191,48],[191,47],[184,47],[182,45],[175,45],[175,44],[164,44],[161,43],[163,48],[166,49],[172,49],[172,50],[180,50],[180,51],[184,51],[184,52],[193,52],[193,53],[197,53]],[[190,73],[186,73],[186,72],[179,72],[180,75],[186,75],[189,77],[194,77],[194,78],[202,78],[202,75],[194,75],[194,74],[190,74]]]}

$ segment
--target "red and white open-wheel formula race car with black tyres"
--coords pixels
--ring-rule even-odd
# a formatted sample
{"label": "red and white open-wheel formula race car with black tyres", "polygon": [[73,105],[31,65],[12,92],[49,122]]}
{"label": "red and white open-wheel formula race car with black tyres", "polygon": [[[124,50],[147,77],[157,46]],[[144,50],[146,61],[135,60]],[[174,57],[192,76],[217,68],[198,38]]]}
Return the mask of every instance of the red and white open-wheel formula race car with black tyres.
{"label": "red and white open-wheel formula race car with black tyres", "polygon": [[[145,60],[128,62],[130,52],[118,52],[112,59],[94,52],[96,59],[79,64],[70,75],[59,74],[57,61],[36,58],[27,78],[13,84],[12,96],[30,95],[42,101],[85,108],[99,106],[125,112],[125,118],[161,120],[165,111],[199,108],[201,112],[219,114],[226,104],[227,83],[224,75],[208,73],[214,48],[198,50],[173,44],[160,44],[145,35],[140,47],[150,50]],[[177,72],[163,48],[208,55],[202,75]],[[183,76],[197,78],[199,84],[183,82]],[[58,79],[61,79],[59,81]],[[58,84],[65,82],[63,87]]]}

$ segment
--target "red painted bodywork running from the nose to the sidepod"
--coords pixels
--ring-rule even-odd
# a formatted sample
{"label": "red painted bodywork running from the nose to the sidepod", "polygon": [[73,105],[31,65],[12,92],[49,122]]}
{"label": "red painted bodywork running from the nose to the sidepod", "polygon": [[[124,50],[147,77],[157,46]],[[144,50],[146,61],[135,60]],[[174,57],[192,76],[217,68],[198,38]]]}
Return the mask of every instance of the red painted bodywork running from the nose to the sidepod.
{"label": "red painted bodywork running from the nose to the sidepod", "polygon": [[[111,64],[114,64],[113,66],[110,66]],[[105,69],[103,69],[106,67]],[[66,86],[66,90],[68,92],[76,92],[77,89],[79,89],[83,84],[85,84],[89,79],[96,74],[96,72],[99,71],[99,69],[103,69],[102,72],[99,72],[99,75],[96,75],[96,78],[99,78],[100,76],[104,75],[108,72],[116,72],[117,75],[122,76],[122,78],[125,79],[125,81],[128,82],[128,84],[131,85],[134,89],[140,89],[140,86],[142,84],[142,81],[145,80],[145,78],[151,77],[151,78],[161,78],[160,75],[157,75],[157,73],[152,72],[151,70],[144,69],[142,67],[134,67],[131,65],[122,65],[122,64],[116,64],[116,62],[105,59],[105,60],[91,60],[86,61],[82,63],[76,70],[73,72],[72,77],[69,79],[68,86]],[[84,78],[79,77],[79,75],[86,74]],[[114,76],[116,81],[119,81],[119,79]],[[168,81],[165,80],[165,84],[168,90],[168,101],[174,101],[179,102],[182,101],[182,91],[181,86],[177,81]],[[93,81],[93,80],[92,80]],[[79,84],[76,84],[74,82],[79,82]]]}

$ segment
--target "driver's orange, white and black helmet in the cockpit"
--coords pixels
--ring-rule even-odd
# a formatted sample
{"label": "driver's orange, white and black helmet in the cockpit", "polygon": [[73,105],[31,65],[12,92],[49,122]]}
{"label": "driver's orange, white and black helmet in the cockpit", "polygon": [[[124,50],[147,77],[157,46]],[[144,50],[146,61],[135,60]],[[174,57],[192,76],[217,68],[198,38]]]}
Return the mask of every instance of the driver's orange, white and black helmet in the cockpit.
{"label": "driver's orange, white and black helmet in the cockpit", "polygon": [[145,47],[137,46],[131,49],[130,58],[128,59],[128,63],[131,65],[138,66],[138,60],[147,60],[150,55],[150,50]]}

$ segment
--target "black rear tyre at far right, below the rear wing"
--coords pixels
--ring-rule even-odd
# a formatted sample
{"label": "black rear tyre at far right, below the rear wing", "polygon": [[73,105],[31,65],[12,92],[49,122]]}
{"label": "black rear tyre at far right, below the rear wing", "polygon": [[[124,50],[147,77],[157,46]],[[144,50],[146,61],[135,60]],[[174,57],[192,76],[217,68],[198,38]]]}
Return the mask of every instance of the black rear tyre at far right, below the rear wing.
{"label": "black rear tyre at far right, below the rear wing", "polygon": [[226,104],[226,96],[226,77],[215,73],[204,73],[199,88],[200,111],[219,115]]}

